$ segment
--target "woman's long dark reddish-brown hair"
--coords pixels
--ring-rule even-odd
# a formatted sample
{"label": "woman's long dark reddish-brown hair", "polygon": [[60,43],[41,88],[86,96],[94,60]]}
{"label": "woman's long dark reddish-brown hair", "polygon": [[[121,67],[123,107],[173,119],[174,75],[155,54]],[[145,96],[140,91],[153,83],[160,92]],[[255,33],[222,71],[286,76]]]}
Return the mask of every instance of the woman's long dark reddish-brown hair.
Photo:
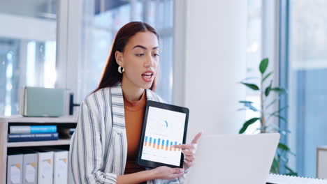
{"label": "woman's long dark reddish-brown hair", "polygon": [[[122,73],[118,72],[119,65],[116,62],[115,52],[124,52],[124,48],[129,41],[129,38],[134,36],[138,32],[146,32],[150,31],[154,33],[158,40],[159,34],[157,31],[145,22],[129,22],[122,26],[121,29],[117,32],[115,36],[115,40],[112,43],[111,52],[106,64],[106,68],[103,70],[102,77],[100,79],[99,86],[92,93],[99,91],[100,89],[106,87],[117,86],[120,82],[122,82]],[[157,85],[157,77],[154,78],[152,86],[150,89],[154,91]]]}

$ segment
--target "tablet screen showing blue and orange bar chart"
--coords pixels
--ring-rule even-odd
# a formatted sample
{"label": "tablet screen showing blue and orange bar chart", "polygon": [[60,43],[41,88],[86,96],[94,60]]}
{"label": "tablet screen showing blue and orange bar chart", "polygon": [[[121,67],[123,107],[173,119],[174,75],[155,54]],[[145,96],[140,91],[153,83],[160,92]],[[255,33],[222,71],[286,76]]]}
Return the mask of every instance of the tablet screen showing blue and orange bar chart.
{"label": "tablet screen showing blue and orange bar chart", "polygon": [[181,150],[170,146],[182,144],[185,118],[182,112],[149,107],[142,160],[179,166]]}

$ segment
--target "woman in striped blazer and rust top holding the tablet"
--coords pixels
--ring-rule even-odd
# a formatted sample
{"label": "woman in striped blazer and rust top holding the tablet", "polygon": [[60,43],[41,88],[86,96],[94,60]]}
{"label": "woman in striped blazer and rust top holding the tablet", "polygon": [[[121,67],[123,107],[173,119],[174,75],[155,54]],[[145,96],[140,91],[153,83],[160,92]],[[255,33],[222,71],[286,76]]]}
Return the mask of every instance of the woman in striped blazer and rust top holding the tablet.
{"label": "woman in striped blazer and rust top holding the tablet", "polygon": [[184,169],[145,169],[135,164],[146,100],[154,93],[159,65],[159,35],[152,26],[130,22],[120,29],[98,88],[80,106],[71,138],[75,183],[182,183],[194,161],[195,144],[183,149]]}

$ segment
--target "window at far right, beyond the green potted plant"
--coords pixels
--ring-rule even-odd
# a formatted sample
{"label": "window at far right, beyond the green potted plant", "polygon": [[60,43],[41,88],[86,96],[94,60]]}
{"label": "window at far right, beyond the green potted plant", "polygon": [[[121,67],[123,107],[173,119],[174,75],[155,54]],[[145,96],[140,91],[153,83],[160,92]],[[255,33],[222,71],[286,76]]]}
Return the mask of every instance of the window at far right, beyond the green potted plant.
{"label": "window at far right, beyond the green potted plant", "polygon": [[317,146],[327,145],[327,1],[289,1],[289,143],[300,176],[316,176]]}

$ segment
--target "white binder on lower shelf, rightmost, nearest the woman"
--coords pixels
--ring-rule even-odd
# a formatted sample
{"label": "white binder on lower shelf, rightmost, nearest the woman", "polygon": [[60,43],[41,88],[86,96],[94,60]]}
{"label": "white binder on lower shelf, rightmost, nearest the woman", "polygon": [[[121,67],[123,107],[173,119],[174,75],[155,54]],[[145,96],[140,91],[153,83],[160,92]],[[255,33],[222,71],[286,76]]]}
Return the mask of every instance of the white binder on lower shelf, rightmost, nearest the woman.
{"label": "white binder on lower shelf, rightmost, nearest the woman", "polygon": [[68,151],[55,148],[45,148],[45,151],[53,151],[53,183],[67,184]]}

